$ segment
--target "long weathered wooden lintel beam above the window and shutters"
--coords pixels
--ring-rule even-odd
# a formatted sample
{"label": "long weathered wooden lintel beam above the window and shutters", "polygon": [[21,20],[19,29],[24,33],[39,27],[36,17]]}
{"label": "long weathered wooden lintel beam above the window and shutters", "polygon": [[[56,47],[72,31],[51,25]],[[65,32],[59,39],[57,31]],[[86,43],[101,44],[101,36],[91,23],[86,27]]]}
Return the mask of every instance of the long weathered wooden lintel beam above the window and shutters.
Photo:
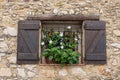
{"label": "long weathered wooden lintel beam above the window and shutters", "polygon": [[27,20],[40,21],[80,21],[80,20],[99,20],[97,15],[34,15],[28,16]]}

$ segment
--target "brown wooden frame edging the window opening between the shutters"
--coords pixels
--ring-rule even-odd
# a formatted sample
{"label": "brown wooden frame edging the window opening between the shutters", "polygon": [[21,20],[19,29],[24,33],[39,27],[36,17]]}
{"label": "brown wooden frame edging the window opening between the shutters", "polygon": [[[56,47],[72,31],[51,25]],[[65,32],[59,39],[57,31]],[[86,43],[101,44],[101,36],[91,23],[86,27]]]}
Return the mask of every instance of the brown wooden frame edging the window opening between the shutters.
{"label": "brown wooden frame edging the window opening between the shutters", "polygon": [[[83,62],[83,52],[82,52],[82,23],[83,23],[83,21],[82,20],[80,20],[80,21],[67,21],[66,20],[66,22],[65,21],[62,21],[62,20],[60,20],[60,21],[58,21],[58,20],[55,20],[55,22],[54,21],[51,21],[50,20],[50,22],[49,22],[49,20],[48,21],[41,21],[41,27],[44,27],[44,25],[45,25],[45,23],[49,23],[49,24],[56,24],[56,22],[57,22],[57,24],[59,25],[60,23],[62,23],[62,25],[63,24],[65,24],[65,25],[68,25],[68,24],[70,24],[70,25],[76,25],[77,26],[77,28],[78,28],[78,26],[79,26],[79,28],[80,28],[80,38],[81,38],[81,40],[80,40],[80,44],[78,45],[80,48],[81,48],[81,50],[79,50],[78,49],[78,52],[80,52],[80,56],[79,56],[79,63],[78,64],[83,64],[82,62]],[[60,22],[60,23],[59,23]],[[47,26],[48,27],[48,26]],[[64,26],[65,27],[65,26]],[[64,28],[63,27],[63,28]],[[40,30],[40,32],[41,32],[41,30]],[[41,33],[40,33],[40,39],[41,39]],[[41,46],[40,46],[40,50],[41,50]],[[40,51],[39,52],[39,55],[41,55],[42,54],[42,52]],[[48,65],[51,65],[50,63],[45,63],[45,59],[43,59],[43,57],[42,57],[42,59],[41,59],[41,56],[40,56],[40,64],[48,64]],[[53,63],[54,64],[54,63]]]}

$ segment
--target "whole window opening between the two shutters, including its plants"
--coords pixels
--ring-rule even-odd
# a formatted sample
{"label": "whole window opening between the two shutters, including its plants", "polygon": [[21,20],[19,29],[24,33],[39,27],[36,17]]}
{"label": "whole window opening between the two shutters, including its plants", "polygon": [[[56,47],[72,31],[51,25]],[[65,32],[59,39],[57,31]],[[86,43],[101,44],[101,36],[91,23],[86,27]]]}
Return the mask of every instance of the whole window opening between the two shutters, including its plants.
{"label": "whole window opening between the two shutters, including its plants", "polygon": [[[81,64],[81,30],[82,21],[42,21],[41,55],[46,54],[41,56],[41,63]],[[78,58],[70,53],[78,54]]]}

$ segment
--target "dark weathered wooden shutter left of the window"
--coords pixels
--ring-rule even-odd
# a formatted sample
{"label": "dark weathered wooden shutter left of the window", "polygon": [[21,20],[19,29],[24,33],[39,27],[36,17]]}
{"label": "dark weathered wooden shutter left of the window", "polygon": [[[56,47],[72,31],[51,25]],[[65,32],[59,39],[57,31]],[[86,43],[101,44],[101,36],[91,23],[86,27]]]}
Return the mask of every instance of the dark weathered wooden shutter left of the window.
{"label": "dark weathered wooden shutter left of the window", "polygon": [[17,63],[34,64],[39,61],[40,21],[18,22]]}

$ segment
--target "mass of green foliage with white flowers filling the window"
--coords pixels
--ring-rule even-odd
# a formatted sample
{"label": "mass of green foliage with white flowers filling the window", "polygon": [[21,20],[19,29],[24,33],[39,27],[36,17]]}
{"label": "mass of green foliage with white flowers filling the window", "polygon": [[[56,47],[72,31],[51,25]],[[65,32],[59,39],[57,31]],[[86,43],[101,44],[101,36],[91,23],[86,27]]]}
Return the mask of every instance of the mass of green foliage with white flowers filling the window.
{"label": "mass of green foliage with white flowers filling the window", "polygon": [[75,32],[60,33],[51,30],[43,33],[46,36],[42,39],[45,42],[43,56],[61,65],[79,63],[80,53],[75,50]]}

